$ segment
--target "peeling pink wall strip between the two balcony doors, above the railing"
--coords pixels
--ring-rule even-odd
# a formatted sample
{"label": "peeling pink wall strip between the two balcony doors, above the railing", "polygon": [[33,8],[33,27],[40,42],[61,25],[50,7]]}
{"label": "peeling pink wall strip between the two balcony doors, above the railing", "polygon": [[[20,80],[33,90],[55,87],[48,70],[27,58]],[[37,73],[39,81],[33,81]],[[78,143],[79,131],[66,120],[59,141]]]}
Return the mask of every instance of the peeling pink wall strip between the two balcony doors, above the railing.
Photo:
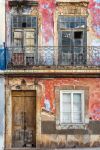
{"label": "peeling pink wall strip between the two balcony doors, above the railing", "polygon": [[39,0],[39,10],[42,14],[43,45],[53,46],[55,0]]}

